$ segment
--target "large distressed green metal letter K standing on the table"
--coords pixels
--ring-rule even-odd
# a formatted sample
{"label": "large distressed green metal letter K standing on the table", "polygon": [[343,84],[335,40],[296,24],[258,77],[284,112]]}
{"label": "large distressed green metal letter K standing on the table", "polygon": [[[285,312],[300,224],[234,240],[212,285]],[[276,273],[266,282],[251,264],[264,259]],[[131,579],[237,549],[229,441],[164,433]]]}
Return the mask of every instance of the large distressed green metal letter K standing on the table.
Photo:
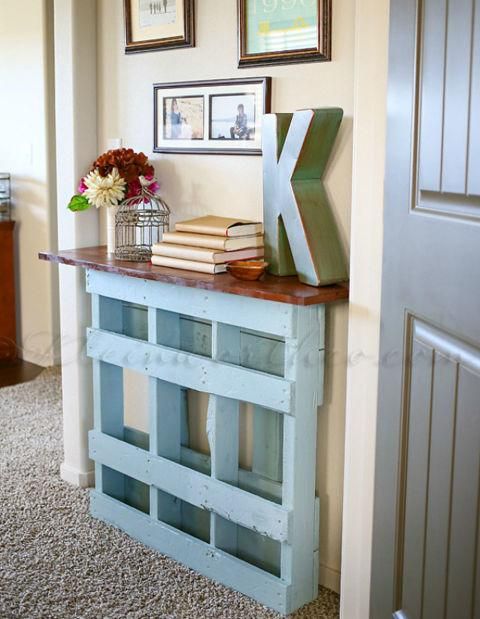
{"label": "large distressed green metal letter K standing on the table", "polygon": [[322,181],[342,117],[332,108],[263,119],[265,259],[271,273],[312,286],[348,279]]}

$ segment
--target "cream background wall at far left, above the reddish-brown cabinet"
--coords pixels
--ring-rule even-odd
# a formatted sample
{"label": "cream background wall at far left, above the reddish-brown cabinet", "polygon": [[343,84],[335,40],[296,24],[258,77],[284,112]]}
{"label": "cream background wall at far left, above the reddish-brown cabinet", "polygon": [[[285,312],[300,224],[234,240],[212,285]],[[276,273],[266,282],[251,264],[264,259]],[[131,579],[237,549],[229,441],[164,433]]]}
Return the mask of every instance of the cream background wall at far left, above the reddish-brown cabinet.
{"label": "cream background wall at far left, above the reddish-brown cabinet", "polygon": [[[57,360],[56,271],[38,260],[56,246],[50,2],[0,2],[0,170],[12,174],[20,355]],[[47,46],[47,41],[49,45]]]}

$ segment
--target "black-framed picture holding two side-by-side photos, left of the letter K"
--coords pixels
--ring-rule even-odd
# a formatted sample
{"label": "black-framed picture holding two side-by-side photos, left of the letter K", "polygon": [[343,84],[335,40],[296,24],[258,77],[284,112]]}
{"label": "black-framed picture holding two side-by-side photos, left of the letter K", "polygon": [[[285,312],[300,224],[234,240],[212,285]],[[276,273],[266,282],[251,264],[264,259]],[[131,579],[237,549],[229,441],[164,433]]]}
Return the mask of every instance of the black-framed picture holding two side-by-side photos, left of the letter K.
{"label": "black-framed picture holding two side-by-side photos, left of the letter K", "polygon": [[271,78],[154,84],[156,153],[262,154]]}

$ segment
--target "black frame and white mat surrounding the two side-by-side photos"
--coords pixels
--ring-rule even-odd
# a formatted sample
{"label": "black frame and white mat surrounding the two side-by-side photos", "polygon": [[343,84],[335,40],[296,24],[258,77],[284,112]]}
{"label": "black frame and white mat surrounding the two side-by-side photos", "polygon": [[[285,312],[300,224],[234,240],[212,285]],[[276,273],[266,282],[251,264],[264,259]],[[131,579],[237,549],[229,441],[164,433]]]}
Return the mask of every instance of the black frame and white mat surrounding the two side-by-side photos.
{"label": "black frame and white mat surrounding the two side-by-side photos", "polygon": [[[271,111],[271,88],[271,77],[249,77],[239,79],[199,80],[191,82],[169,82],[154,84],[153,152],[197,155],[261,155],[261,124],[259,121],[263,114],[268,114]],[[185,140],[184,143],[180,143],[180,140],[178,140],[177,144],[172,145],[171,138],[161,139],[159,137],[160,122],[162,123],[162,134],[164,133],[163,127],[166,126],[166,119],[164,115],[164,100],[171,99],[172,92],[175,93],[175,98],[178,98],[179,100],[181,100],[182,98],[192,98],[195,96],[200,96],[201,94],[205,96],[205,131],[203,140],[192,138],[189,140]],[[196,94],[196,92],[198,94]],[[257,96],[254,118],[254,140],[212,138],[212,98],[217,96],[242,97],[252,94]],[[199,145],[199,142],[202,142],[202,146]],[[220,144],[222,144],[222,146],[220,146]]]}

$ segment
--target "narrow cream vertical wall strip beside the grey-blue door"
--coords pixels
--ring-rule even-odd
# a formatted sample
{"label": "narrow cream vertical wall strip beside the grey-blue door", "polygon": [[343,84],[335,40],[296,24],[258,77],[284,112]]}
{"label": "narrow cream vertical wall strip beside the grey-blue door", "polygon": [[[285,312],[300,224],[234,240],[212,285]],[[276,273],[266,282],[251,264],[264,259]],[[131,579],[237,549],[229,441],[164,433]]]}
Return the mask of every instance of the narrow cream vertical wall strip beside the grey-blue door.
{"label": "narrow cream vertical wall strip beside the grey-blue door", "polygon": [[341,617],[370,616],[389,0],[357,0]]}

